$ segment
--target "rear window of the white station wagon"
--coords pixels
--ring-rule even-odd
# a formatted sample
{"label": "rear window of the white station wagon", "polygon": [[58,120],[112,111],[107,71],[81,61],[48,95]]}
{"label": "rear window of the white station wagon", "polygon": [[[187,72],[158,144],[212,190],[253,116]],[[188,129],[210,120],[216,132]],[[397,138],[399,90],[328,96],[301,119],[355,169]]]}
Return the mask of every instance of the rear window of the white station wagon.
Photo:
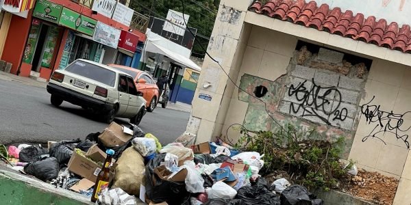
{"label": "rear window of the white station wagon", "polygon": [[94,81],[98,81],[111,87],[114,87],[114,84],[116,83],[116,72],[100,66],[89,64],[85,61],[76,61],[64,70]]}

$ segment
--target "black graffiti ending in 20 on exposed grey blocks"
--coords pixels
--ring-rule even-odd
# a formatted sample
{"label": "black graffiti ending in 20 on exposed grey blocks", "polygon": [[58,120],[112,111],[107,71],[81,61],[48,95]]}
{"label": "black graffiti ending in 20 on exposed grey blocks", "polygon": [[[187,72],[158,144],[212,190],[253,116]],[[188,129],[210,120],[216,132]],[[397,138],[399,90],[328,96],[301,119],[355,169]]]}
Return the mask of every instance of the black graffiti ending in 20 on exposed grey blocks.
{"label": "black graffiti ending in 20 on exposed grey blocks", "polygon": [[288,96],[294,97],[298,102],[290,102],[289,113],[299,113],[303,109],[302,117],[314,116],[328,125],[331,125],[329,120],[347,119],[347,108],[340,107],[342,96],[338,87],[321,87],[316,85],[314,79],[311,88],[306,87],[306,83],[307,80],[290,86]]}

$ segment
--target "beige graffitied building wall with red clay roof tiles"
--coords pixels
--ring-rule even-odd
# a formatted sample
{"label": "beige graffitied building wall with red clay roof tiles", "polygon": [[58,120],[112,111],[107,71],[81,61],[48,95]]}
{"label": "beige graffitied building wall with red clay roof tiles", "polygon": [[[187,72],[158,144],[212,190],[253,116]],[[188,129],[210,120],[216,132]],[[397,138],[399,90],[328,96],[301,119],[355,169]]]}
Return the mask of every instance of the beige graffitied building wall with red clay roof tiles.
{"label": "beige graffitied building wall with red clay roof tiles", "polygon": [[395,2],[221,1],[208,45],[219,63],[204,61],[187,131],[197,143],[238,139],[232,124],[345,137],[344,158],[399,179],[394,204],[410,204],[411,7]]}

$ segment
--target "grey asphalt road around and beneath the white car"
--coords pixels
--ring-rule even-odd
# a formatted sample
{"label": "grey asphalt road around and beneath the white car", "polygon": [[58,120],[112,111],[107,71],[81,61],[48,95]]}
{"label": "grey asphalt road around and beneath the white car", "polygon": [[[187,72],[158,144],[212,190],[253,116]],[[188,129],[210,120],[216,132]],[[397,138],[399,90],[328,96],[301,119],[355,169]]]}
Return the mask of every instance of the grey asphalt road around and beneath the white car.
{"label": "grey asphalt road around and beneath the white car", "polygon": [[[102,132],[108,126],[80,107],[68,102],[53,107],[49,99],[45,88],[0,80],[0,143],[84,139],[89,133]],[[140,128],[165,145],[186,130],[189,115],[160,106],[142,118]],[[120,123],[125,122],[123,120],[116,119]]]}

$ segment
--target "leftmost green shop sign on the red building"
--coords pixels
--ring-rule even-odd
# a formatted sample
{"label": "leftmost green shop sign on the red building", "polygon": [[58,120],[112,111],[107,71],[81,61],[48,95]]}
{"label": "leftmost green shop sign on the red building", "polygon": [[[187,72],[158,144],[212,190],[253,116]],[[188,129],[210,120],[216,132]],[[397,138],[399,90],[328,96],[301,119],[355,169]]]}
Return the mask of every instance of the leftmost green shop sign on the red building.
{"label": "leftmost green shop sign on the red building", "polygon": [[33,16],[42,20],[48,20],[53,23],[58,23],[62,14],[63,6],[45,0],[38,0],[36,8],[34,8]]}

